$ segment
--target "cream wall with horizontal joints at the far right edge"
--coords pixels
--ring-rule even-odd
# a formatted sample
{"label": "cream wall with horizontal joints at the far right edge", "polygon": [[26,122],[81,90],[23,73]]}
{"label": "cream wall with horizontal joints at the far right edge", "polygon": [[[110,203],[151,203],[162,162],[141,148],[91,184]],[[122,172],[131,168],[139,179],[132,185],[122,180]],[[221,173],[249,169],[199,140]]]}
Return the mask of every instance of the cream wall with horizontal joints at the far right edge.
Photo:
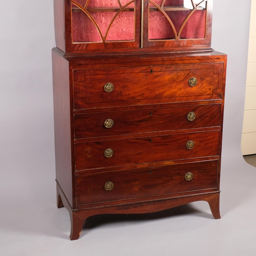
{"label": "cream wall with horizontal joints at the far right edge", "polygon": [[250,33],[241,140],[243,155],[256,154],[256,0],[251,1]]}

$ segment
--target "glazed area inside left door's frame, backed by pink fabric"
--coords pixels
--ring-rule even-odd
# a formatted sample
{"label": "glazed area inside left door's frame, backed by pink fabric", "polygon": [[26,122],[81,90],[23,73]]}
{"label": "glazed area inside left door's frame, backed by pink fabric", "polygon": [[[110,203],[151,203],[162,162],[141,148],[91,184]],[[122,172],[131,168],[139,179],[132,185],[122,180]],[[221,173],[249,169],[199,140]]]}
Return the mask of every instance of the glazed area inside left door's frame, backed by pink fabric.
{"label": "glazed area inside left door's frame, backed by pink fabric", "polygon": [[121,0],[119,5],[118,0],[88,0],[86,6],[87,0],[73,1],[73,42],[134,40],[134,2],[123,8],[129,2]]}

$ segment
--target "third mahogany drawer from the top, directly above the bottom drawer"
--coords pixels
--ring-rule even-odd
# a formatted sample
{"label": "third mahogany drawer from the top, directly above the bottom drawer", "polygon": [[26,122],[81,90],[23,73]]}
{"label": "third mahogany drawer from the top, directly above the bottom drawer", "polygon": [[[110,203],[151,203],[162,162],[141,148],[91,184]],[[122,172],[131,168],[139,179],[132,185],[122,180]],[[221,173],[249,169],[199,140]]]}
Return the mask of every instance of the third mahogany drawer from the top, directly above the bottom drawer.
{"label": "third mahogany drawer from the top, directly above the bottom drawer", "polygon": [[76,143],[75,165],[83,170],[217,156],[219,140],[220,131],[210,131]]}

